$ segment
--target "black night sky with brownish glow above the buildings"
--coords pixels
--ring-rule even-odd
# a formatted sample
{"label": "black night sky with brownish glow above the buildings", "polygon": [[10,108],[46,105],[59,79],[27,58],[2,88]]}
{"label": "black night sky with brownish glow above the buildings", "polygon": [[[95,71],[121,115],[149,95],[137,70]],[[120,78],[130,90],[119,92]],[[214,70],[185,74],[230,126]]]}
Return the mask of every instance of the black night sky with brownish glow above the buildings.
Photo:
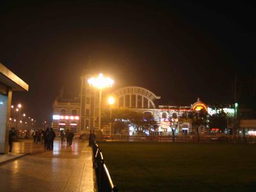
{"label": "black night sky with brownish glow above the buildings", "polygon": [[255,103],[256,10],[246,1],[0,2],[0,62],[29,84],[13,103],[38,122],[61,86],[79,91],[89,57],[116,88],[143,86],[161,104],[233,102],[234,74],[239,102]]}

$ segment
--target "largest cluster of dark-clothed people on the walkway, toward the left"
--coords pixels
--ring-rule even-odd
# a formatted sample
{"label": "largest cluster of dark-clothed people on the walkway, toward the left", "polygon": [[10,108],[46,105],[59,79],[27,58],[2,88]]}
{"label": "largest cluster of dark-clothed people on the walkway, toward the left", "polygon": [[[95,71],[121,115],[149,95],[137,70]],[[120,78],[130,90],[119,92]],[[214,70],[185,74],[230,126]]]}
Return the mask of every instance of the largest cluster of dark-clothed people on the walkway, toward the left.
{"label": "largest cluster of dark-clothed people on the walkway, toward the left", "polygon": [[34,129],[32,136],[35,143],[44,144],[46,150],[53,150],[54,138],[56,138],[56,133],[52,128],[47,127],[44,129]]}

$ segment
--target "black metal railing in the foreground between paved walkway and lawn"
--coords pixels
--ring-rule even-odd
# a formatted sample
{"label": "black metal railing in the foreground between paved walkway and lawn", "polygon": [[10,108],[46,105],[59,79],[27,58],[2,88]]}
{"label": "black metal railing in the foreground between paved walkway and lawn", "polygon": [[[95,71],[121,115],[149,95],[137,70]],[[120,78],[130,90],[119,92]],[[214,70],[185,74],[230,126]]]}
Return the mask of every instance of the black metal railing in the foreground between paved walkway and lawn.
{"label": "black metal railing in the foreground between paved walkway and lawn", "polygon": [[93,166],[95,167],[97,186],[99,192],[117,192],[118,188],[113,184],[113,181],[109,175],[108,168],[104,163],[104,158],[101,152],[101,148],[93,141]]}

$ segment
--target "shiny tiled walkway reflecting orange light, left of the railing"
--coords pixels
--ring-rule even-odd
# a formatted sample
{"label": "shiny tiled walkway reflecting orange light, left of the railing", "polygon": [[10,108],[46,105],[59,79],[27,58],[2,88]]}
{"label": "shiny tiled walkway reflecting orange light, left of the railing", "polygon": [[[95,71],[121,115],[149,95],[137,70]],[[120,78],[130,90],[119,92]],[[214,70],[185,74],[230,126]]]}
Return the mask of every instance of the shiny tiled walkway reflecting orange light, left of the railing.
{"label": "shiny tiled walkway reflecting orange light, left of the railing", "polygon": [[54,142],[54,150],[0,165],[0,191],[95,191],[92,148],[75,140]]}

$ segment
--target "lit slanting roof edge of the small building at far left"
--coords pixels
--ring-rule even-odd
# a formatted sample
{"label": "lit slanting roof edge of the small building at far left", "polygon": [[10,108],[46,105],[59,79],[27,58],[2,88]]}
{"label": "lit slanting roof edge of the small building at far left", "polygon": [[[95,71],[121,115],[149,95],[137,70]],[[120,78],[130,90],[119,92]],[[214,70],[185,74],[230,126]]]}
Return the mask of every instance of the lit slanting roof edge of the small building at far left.
{"label": "lit slanting roof edge of the small building at far left", "polygon": [[27,91],[28,84],[26,84],[20,77],[13,74],[8,68],[0,63],[0,81],[6,86],[12,88],[13,91]]}

